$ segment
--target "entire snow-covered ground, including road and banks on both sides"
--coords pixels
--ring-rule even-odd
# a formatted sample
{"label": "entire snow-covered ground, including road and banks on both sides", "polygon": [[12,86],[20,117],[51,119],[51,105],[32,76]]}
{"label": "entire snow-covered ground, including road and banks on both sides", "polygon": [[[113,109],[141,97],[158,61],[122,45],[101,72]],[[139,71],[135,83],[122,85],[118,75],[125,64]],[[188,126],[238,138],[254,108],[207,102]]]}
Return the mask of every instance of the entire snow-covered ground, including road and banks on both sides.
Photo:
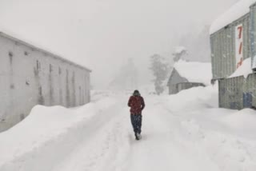
{"label": "entire snow-covered ground, including road and banks on both sides", "polygon": [[255,171],[256,112],[218,109],[217,87],[143,94],[135,141],[129,94],[93,92],[75,109],[36,106],[0,133],[1,171]]}

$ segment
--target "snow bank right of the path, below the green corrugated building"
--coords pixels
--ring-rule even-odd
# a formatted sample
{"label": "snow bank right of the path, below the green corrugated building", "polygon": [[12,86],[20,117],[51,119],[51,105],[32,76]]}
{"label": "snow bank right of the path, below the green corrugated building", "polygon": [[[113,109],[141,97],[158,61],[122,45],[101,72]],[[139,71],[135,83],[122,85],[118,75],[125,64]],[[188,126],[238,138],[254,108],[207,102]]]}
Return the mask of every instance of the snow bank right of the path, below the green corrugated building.
{"label": "snow bank right of the path, below the green corrugated building", "polygon": [[256,169],[255,110],[218,109],[218,86],[187,89],[165,103],[170,111],[166,122],[176,132],[171,138],[185,149],[183,153],[200,157],[208,170]]}

